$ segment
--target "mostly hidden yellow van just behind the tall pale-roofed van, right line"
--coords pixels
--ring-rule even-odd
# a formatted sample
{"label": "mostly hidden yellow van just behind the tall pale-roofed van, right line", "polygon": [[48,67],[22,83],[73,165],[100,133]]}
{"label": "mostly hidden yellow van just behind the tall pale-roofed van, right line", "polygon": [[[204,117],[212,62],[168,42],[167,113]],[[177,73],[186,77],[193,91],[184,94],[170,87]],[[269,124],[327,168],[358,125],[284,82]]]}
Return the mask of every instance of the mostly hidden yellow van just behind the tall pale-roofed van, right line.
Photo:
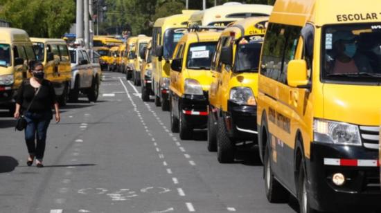
{"label": "mostly hidden yellow van just behind the tall pale-roofed van, right line", "polygon": [[141,63],[141,100],[148,102],[152,92],[152,40],[148,42],[144,50],[143,62]]}

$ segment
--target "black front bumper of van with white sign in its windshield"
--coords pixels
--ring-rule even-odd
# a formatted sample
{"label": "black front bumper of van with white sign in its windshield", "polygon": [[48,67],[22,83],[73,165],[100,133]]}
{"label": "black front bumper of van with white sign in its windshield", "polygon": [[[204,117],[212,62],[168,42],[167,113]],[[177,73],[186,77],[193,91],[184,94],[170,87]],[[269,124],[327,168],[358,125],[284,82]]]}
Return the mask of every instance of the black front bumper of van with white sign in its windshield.
{"label": "black front bumper of van with white sign in its windshield", "polygon": [[180,100],[180,110],[190,127],[195,129],[204,129],[208,123],[208,105],[207,93],[204,95],[183,95]]}

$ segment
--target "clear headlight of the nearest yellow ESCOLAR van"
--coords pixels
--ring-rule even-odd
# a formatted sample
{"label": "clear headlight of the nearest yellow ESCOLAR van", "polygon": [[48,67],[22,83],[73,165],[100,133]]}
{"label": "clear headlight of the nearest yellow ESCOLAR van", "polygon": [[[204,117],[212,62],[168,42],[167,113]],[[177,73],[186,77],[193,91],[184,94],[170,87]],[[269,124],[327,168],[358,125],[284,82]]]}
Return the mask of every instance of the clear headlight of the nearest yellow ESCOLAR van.
{"label": "clear headlight of the nearest yellow ESCOLAR van", "polygon": [[314,141],[361,146],[359,127],[344,122],[314,119]]}

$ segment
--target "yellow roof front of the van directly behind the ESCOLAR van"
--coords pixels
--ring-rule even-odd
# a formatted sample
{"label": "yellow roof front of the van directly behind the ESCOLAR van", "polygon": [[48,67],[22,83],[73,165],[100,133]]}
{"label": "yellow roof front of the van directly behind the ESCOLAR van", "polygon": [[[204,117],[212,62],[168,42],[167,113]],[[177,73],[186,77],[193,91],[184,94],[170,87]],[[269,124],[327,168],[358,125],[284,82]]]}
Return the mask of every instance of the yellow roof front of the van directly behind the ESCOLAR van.
{"label": "yellow roof front of the van directly behind the ESCOLAR van", "polygon": [[236,33],[236,38],[248,35],[265,35],[265,26],[263,26],[263,22],[268,20],[269,17],[252,17],[242,19],[240,21],[233,22],[233,24],[224,29],[224,31],[222,31],[222,35],[229,35],[231,32]]}

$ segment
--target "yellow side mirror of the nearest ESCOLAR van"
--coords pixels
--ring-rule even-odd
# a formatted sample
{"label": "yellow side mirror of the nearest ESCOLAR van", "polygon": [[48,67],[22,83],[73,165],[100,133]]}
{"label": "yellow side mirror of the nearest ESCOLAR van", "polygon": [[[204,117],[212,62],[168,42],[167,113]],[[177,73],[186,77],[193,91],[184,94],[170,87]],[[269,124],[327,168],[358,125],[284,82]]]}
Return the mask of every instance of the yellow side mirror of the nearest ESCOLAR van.
{"label": "yellow side mirror of the nearest ESCOLAR van", "polygon": [[292,60],[287,66],[287,84],[297,88],[309,88],[307,62],[303,59]]}

